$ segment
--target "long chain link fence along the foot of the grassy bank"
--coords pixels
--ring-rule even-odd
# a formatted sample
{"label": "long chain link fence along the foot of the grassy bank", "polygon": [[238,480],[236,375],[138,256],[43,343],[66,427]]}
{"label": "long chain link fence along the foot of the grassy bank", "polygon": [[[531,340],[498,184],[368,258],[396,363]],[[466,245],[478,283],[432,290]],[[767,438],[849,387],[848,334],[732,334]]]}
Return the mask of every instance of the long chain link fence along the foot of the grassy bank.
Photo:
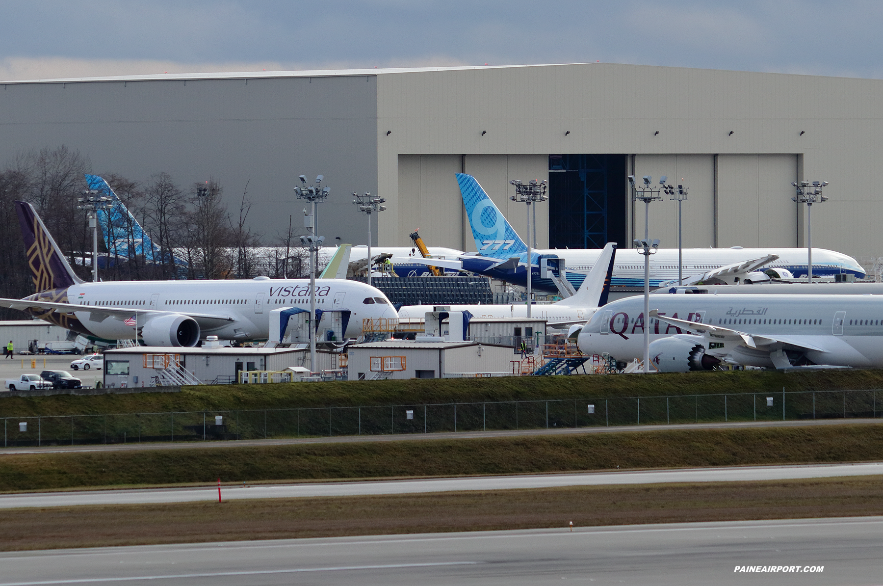
{"label": "long chain link fence along the foot of the grassy bank", "polygon": [[[875,418],[879,390],[4,417],[4,447]],[[883,399],[883,392],[880,392]]]}

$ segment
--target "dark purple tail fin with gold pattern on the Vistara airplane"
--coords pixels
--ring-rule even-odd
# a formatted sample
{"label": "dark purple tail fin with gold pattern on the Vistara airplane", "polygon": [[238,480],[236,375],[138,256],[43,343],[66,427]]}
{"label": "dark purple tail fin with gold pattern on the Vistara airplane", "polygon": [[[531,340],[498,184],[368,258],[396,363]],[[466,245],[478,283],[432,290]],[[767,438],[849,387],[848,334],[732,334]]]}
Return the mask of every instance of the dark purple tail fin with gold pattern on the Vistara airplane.
{"label": "dark purple tail fin with gold pattern on the Vistara airplane", "polygon": [[83,283],[64,258],[46,225],[37,216],[34,206],[27,202],[14,204],[19,215],[21,237],[25,240],[27,265],[31,269],[37,293]]}

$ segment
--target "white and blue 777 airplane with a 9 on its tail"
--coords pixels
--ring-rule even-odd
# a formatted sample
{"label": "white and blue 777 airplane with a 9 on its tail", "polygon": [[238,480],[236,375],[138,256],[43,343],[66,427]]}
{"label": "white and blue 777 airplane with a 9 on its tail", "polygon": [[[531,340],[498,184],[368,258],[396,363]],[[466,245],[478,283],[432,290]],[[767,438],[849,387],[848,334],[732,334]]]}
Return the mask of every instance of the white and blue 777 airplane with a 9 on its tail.
{"label": "white and blue 777 airplane with a 9 on its tail", "polygon": [[[472,237],[478,251],[475,255],[461,256],[463,269],[488,277],[499,278],[516,285],[526,285],[527,245],[521,240],[494,202],[472,175],[457,173],[457,183]],[[551,278],[540,275],[540,260],[562,258],[566,264],[567,280],[576,288],[582,283],[585,271],[598,261],[598,248],[582,249],[536,249],[532,250],[532,286],[540,291],[555,293],[558,288]],[[684,248],[683,275],[698,275],[708,270],[720,269],[731,264],[744,263],[767,255],[778,258],[764,268],[789,270],[795,277],[806,275],[808,258],[805,248]],[[555,262],[553,262],[555,263]],[[582,271],[582,272],[571,272]],[[557,270],[552,271],[553,274]],[[864,278],[864,269],[851,256],[824,248],[812,249],[812,274],[831,275],[851,273]],[[659,286],[677,279],[677,248],[660,248],[650,257],[650,285]],[[613,268],[613,285],[644,285],[644,256],[634,248],[620,249],[616,253]]]}

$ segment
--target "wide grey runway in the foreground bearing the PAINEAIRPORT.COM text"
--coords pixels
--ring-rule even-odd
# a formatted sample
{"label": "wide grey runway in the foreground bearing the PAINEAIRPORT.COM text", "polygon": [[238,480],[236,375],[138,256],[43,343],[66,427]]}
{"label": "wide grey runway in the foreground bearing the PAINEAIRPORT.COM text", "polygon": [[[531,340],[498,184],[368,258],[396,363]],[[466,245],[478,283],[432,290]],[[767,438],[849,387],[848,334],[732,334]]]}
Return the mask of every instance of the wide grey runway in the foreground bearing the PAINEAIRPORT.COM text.
{"label": "wide grey runway in the foreground bearing the PAINEAIRPORT.COM text", "polygon": [[0,586],[872,586],[881,549],[881,517],[332,537],[6,552]]}

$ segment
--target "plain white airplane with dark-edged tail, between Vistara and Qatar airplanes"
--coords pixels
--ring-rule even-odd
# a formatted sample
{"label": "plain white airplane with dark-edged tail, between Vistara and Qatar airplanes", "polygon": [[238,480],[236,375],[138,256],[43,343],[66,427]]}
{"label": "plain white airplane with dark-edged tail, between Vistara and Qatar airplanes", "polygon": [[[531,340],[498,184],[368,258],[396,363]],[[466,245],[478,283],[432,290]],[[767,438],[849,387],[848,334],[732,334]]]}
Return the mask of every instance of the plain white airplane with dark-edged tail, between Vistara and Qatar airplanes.
{"label": "plain white airplane with dark-edged tail, between Vistara and Qatar airplanes", "polygon": [[[565,327],[573,323],[583,323],[595,311],[607,303],[610,291],[610,271],[615,261],[615,244],[610,242],[601,250],[601,255],[592,270],[579,286],[577,293],[569,298],[544,305],[532,306],[532,317],[547,320],[552,327]],[[448,306],[445,306],[448,307]],[[408,305],[398,310],[401,318],[423,318],[427,311],[433,311],[432,305]],[[474,317],[526,317],[525,303],[506,305],[452,305],[451,311],[468,311]]]}

